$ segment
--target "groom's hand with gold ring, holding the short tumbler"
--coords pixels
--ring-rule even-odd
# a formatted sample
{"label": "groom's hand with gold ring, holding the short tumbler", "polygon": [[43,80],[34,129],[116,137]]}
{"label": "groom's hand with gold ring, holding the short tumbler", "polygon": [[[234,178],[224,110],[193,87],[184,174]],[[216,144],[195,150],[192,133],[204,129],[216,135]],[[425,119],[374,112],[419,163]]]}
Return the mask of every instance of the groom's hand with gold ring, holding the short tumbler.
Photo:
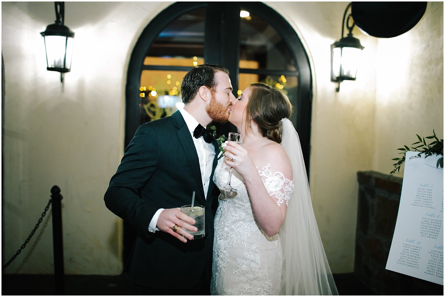
{"label": "groom's hand with gold ring, holding the short tumbler", "polygon": [[[161,214],[159,214],[158,222],[156,223],[156,227],[159,230],[164,231],[178,238],[182,242],[187,242],[193,239],[193,235],[186,232],[187,229],[191,232],[196,232],[198,228],[193,226],[195,220],[190,218],[188,215],[183,214],[179,207],[170,208],[166,210],[162,210]],[[178,225],[178,230],[176,232],[173,230],[173,226]],[[184,236],[184,237],[182,237]]]}

